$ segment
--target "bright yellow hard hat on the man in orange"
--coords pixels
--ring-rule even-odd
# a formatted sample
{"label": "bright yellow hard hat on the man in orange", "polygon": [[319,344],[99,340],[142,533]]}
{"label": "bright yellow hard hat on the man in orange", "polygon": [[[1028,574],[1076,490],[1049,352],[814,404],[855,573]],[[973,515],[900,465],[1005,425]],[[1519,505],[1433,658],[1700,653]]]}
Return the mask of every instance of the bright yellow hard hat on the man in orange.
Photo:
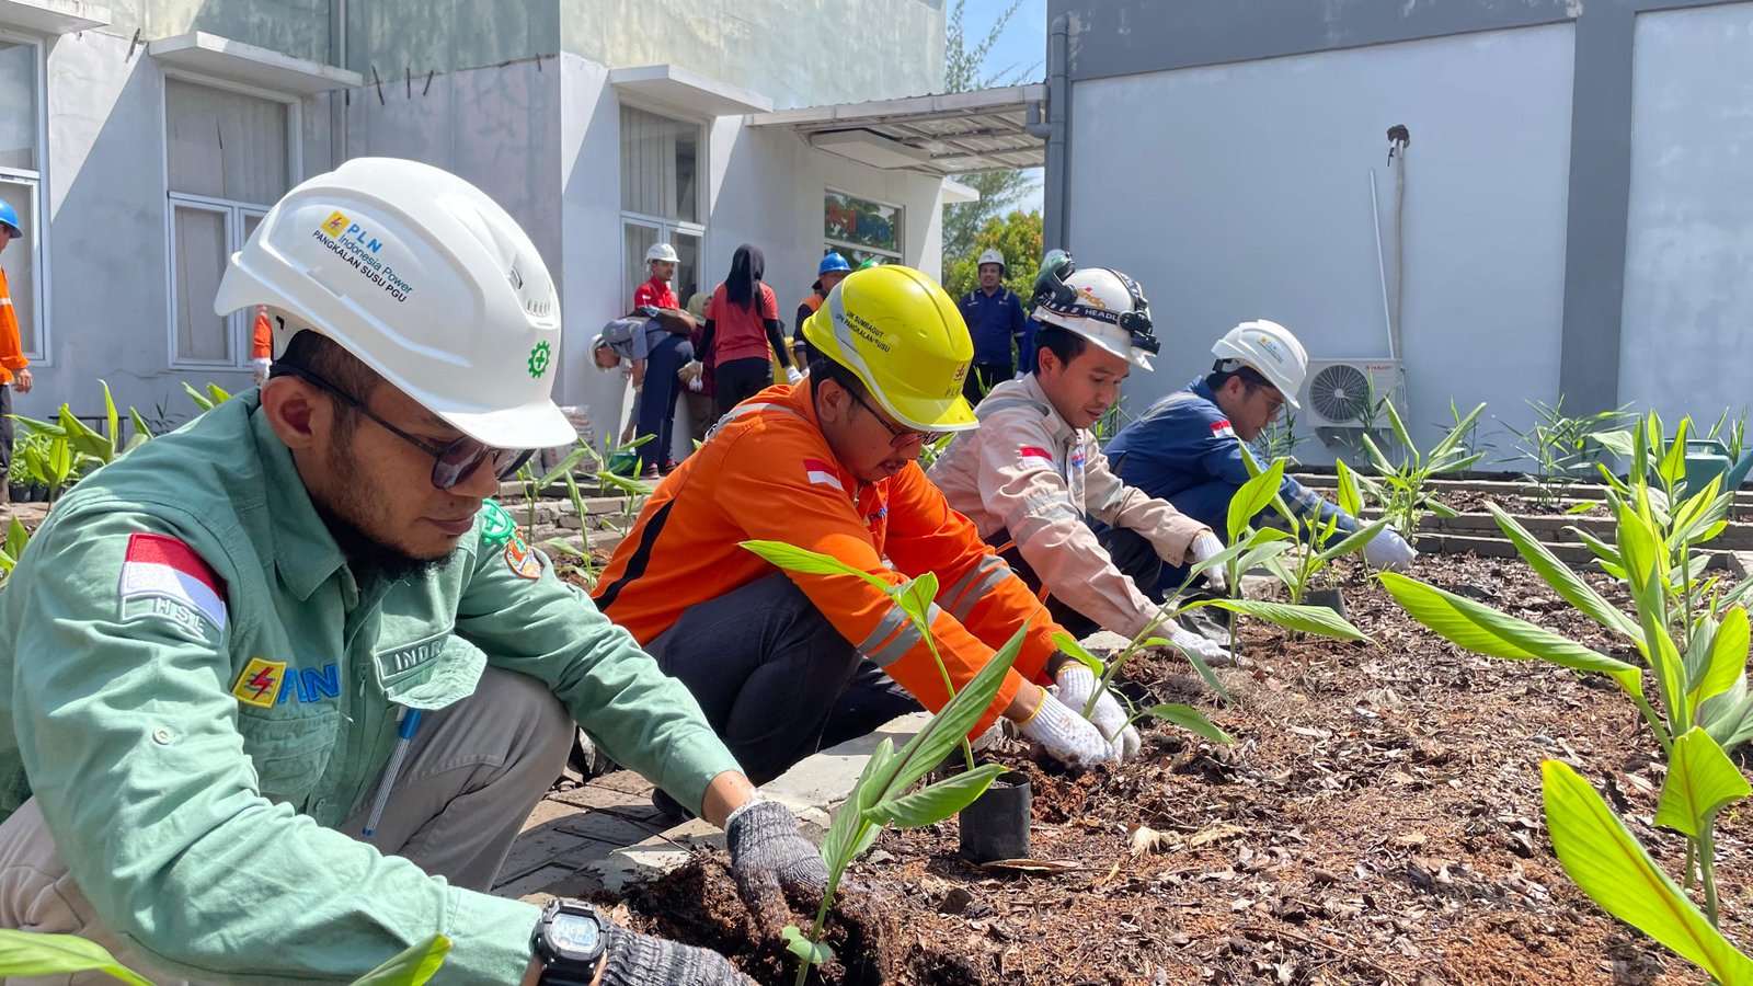
{"label": "bright yellow hard hat on the man in orange", "polygon": [[968,325],[943,288],[912,267],[854,270],[803,323],[803,337],[852,370],[901,425],[920,432],[978,425],[962,398],[975,358]]}

